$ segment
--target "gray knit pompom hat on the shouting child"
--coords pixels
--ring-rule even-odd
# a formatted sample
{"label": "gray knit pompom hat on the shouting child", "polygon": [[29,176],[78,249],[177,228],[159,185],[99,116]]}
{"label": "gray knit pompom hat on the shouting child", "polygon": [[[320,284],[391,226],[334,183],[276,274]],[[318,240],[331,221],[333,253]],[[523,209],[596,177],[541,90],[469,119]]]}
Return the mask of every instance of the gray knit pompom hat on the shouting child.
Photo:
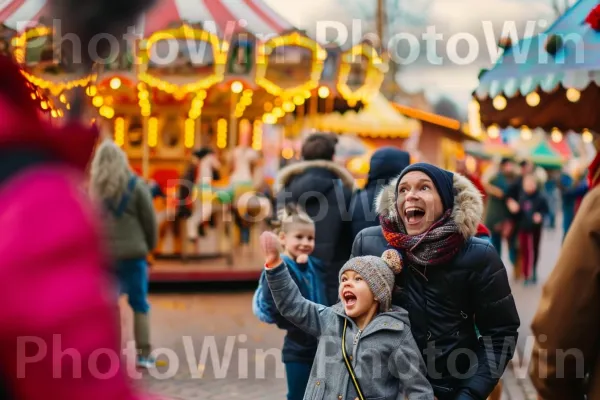
{"label": "gray knit pompom hat on the shouting child", "polygon": [[339,279],[346,271],[359,274],[379,302],[379,311],[385,312],[392,307],[392,292],[396,274],[402,272],[402,257],[396,250],[386,250],[381,257],[363,256],[351,258],[340,270]]}

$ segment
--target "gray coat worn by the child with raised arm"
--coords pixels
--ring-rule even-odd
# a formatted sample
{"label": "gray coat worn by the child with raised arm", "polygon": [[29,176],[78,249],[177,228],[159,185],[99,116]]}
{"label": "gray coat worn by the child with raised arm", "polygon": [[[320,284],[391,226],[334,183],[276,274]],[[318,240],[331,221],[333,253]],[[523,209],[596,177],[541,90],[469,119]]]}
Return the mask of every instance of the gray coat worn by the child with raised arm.
{"label": "gray coat worn by the child with raised arm", "polygon": [[406,310],[378,314],[364,331],[346,316],[341,303],[325,307],[306,300],[285,264],[267,269],[269,288],[282,316],[319,338],[304,400],[354,400],[357,392],[342,356],[346,354],[367,400],[432,400],[425,363],[410,331]]}

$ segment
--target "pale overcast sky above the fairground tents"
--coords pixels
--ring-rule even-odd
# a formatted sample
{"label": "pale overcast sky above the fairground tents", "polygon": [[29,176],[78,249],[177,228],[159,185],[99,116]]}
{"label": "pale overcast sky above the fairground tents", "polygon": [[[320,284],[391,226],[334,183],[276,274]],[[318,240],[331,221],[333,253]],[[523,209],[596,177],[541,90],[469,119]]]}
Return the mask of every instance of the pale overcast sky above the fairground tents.
{"label": "pale overcast sky above the fairground tents", "polygon": [[[282,1],[264,0],[275,11],[287,18],[299,28],[315,34],[316,20],[340,21],[347,26],[352,18],[361,16],[361,10],[375,7],[376,0],[303,0]],[[430,100],[435,101],[441,95],[454,99],[462,109],[466,109],[471,92],[477,86],[477,75],[481,68],[488,68],[494,59],[490,55],[489,45],[500,37],[506,21],[514,21],[520,36],[524,35],[529,22],[529,33],[543,31],[554,21],[551,0],[405,0],[414,7],[424,7],[426,23],[423,26],[410,28],[416,37],[426,31],[427,26],[434,27],[444,38],[437,44],[437,54],[444,58],[444,65],[433,65],[431,57],[421,57],[419,61],[403,67],[400,83],[409,91],[424,88]],[[344,6],[342,6],[344,5]],[[489,26],[484,34],[484,23]],[[365,30],[372,30],[365,27]],[[432,28],[430,28],[432,29]],[[402,26],[394,27],[396,32],[403,31]],[[479,46],[479,57],[468,65],[457,65],[449,59],[444,51],[447,42],[453,35],[463,33],[475,37]],[[466,36],[463,35],[463,36]],[[400,43],[407,43],[406,41]],[[421,43],[421,50],[426,47]],[[459,55],[468,52],[466,41],[460,41]],[[406,47],[406,46],[404,46]],[[492,51],[495,51],[495,46]],[[406,49],[404,49],[406,50]],[[426,54],[426,51],[423,51]],[[401,57],[408,53],[400,54]],[[445,56],[445,57],[444,57]]]}

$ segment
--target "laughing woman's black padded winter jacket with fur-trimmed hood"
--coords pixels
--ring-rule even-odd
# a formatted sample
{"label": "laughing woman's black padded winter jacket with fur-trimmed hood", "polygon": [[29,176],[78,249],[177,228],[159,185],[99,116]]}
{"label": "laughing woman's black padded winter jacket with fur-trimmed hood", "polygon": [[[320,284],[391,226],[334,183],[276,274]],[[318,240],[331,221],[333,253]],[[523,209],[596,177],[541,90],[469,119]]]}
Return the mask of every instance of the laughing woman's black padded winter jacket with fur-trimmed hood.
{"label": "laughing woman's black padded winter jacket with fur-trimmed hood", "polygon": [[[390,186],[377,198],[378,211],[397,219]],[[427,279],[405,268],[393,302],[409,312],[436,397],[485,400],[514,354],[520,320],[502,260],[488,242],[473,237],[480,194],[459,175],[454,187],[453,216],[468,237],[463,248],[447,265],[420,270]],[[352,256],[380,256],[387,248],[381,228],[371,227],[355,239]]]}

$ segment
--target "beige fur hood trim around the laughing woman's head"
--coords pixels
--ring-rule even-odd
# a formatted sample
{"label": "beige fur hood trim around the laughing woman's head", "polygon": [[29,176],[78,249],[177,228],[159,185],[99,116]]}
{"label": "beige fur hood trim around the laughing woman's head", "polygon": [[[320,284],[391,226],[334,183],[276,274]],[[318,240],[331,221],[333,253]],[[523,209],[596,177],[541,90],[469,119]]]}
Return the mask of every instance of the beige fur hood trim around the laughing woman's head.
{"label": "beige fur hood trim around the laughing woman's head", "polygon": [[[460,233],[465,238],[475,236],[477,226],[483,218],[483,200],[481,193],[469,179],[463,175],[454,173],[454,208],[452,218]],[[379,215],[383,215],[398,222],[398,211],[396,209],[396,183],[398,178],[393,179],[385,186],[375,198],[375,208]]]}

